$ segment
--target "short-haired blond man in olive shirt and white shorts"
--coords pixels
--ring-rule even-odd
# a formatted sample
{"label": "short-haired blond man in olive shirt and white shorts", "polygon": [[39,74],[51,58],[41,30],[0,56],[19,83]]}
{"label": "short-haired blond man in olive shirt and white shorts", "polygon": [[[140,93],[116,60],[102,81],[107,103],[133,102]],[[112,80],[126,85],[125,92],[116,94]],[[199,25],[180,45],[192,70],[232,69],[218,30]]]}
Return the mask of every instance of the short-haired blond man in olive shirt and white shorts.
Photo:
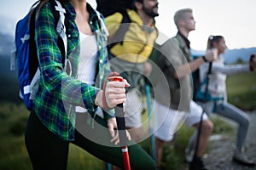
{"label": "short-haired blond man in olive shirt and white shorts", "polygon": [[[177,35],[167,40],[161,47],[158,65],[166,77],[168,88],[164,88],[164,81],[158,80],[154,87],[154,133],[157,150],[157,166],[161,167],[163,146],[172,141],[179,123],[185,122],[189,127],[201,130],[198,151],[194,161],[193,156],[190,169],[203,169],[201,157],[207,148],[208,139],[212,133],[212,122],[207,114],[203,114],[200,128],[201,106],[192,100],[191,73],[205,62],[212,61],[212,50],[207,50],[205,57],[191,59],[189,32],[195,30],[195,20],[192,9],[183,8],[174,15]],[[157,75],[156,75],[157,76]],[[171,95],[171,99],[169,94]]]}

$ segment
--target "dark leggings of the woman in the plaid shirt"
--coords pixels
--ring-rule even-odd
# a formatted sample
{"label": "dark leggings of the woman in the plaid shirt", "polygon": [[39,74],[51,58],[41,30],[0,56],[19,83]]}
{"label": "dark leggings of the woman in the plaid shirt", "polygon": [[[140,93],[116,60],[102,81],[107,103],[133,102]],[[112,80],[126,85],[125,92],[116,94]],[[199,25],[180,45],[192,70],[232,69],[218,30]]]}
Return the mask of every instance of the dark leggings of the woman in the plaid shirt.
{"label": "dark leggings of the woman in the plaid shirt", "polygon": [[[78,145],[102,161],[124,167],[121,148],[110,142],[106,122],[96,116],[94,127],[89,114],[77,114],[75,140]],[[104,127],[102,127],[104,125]],[[35,113],[31,113],[26,125],[26,149],[35,170],[67,169],[68,145],[44,127]],[[131,169],[156,169],[153,159],[138,144],[129,143]]]}

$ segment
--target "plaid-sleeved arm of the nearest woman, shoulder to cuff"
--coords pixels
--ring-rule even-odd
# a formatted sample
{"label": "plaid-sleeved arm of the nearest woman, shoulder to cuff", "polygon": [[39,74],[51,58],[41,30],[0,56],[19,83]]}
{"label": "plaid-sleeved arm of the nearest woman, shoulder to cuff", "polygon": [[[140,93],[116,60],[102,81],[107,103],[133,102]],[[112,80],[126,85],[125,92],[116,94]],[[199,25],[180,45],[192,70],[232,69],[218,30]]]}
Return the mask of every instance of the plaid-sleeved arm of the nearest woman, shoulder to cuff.
{"label": "plaid-sleeved arm of the nearest woman, shoulder to cuff", "polygon": [[[69,77],[62,68],[61,50],[55,31],[55,19],[51,6],[46,3],[39,11],[36,21],[35,40],[38,48],[38,61],[41,71],[41,84],[44,91],[53,94],[55,98],[71,105],[85,105],[89,111],[94,111],[94,100],[99,88],[91,87],[79,80]],[[73,25],[71,25],[73,26]],[[71,37],[74,39],[74,37]],[[69,48],[76,48],[69,45]],[[75,54],[74,54],[75,55]],[[74,64],[77,64],[77,60]],[[76,65],[73,65],[76,66]]]}

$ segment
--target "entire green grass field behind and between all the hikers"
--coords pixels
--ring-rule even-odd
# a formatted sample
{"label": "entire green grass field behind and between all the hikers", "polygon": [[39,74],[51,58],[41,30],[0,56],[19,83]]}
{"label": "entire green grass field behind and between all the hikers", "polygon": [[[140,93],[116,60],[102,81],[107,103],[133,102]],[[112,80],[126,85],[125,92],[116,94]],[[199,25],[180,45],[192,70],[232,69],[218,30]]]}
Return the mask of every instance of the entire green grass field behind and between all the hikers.
{"label": "entire green grass field behind and between all the hikers", "polygon": [[[228,96],[230,103],[237,105],[242,110],[256,110],[256,72],[240,74],[229,77],[227,80]],[[4,170],[29,170],[31,162],[26,153],[24,143],[24,130],[28,111],[24,105],[0,103],[0,169]],[[233,133],[232,127],[221,119],[213,120],[214,133]],[[183,150],[188,142],[192,129],[182,127],[177,133],[175,144],[165,147],[164,162],[166,169],[183,169]],[[145,150],[149,150],[149,139],[141,143]],[[148,151],[149,152],[149,151]],[[104,162],[91,156],[84,150],[71,144],[67,169],[102,170]]]}

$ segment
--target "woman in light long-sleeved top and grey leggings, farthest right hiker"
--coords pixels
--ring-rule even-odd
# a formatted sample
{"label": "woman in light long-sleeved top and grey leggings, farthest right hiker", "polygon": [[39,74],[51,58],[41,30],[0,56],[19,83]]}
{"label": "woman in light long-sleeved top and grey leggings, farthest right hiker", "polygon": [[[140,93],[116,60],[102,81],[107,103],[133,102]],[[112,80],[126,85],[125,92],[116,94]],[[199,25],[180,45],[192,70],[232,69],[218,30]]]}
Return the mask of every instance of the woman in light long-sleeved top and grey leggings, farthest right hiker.
{"label": "woman in light long-sleeved top and grey leggings, farthest right hiker", "polygon": [[[207,42],[207,49],[216,48],[218,50],[218,58],[212,61],[212,71],[208,75],[207,84],[207,102],[197,102],[208,114],[215,113],[224,116],[232,121],[237,122],[238,129],[236,133],[236,149],[234,151],[233,160],[247,165],[255,165],[255,162],[248,159],[243,153],[243,148],[247,139],[249,127],[249,117],[244,111],[238,109],[235,105],[227,102],[226,77],[228,75],[241,72],[253,71],[256,65],[255,58],[251,59],[248,65],[224,65],[224,54],[227,48],[225,39],[222,36],[210,36]],[[207,63],[200,67],[200,80],[203,82],[207,77],[209,65]],[[206,91],[206,84],[202,84],[199,89],[201,92]]]}

